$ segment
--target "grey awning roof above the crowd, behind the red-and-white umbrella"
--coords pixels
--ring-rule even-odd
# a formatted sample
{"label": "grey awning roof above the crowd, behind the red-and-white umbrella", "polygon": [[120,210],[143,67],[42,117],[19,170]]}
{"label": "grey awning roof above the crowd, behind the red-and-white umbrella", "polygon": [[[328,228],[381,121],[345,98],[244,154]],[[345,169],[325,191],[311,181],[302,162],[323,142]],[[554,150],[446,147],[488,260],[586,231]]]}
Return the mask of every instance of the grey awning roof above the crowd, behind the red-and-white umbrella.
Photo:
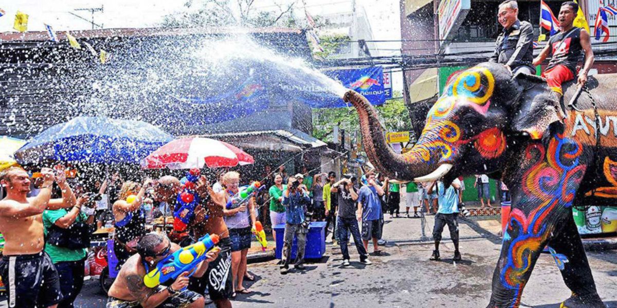
{"label": "grey awning roof above the crowd, behind the red-and-white umbrella", "polygon": [[297,129],[225,132],[200,136],[223,140],[244,149],[253,148],[257,150],[300,152],[307,148],[327,148],[325,142]]}

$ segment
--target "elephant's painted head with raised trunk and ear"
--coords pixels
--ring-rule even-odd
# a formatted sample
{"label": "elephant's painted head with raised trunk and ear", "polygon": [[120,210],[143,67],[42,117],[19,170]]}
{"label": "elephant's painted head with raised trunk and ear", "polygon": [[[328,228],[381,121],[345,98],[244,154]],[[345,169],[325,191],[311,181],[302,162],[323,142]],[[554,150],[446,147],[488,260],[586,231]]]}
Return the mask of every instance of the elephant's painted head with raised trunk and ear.
{"label": "elephant's painted head with raised trunk and ear", "polygon": [[[504,65],[481,63],[453,76],[433,105],[421,136],[404,155],[386,144],[379,116],[365,97],[344,95],[358,111],[366,155],[395,179],[431,181],[494,171],[507,153],[511,132],[539,138],[558,121],[547,109],[550,89],[543,79],[512,76]],[[549,104],[554,106],[554,100]],[[460,169],[463,168],[463,169]],[[453,171],[453,172],[450,172]]]}

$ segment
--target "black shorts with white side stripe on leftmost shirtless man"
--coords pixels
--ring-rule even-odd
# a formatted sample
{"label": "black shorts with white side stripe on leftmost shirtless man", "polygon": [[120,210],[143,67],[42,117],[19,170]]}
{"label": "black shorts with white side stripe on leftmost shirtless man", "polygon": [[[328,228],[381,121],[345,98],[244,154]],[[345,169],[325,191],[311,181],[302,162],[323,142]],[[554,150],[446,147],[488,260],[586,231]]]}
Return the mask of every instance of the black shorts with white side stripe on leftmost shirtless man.
{"label": "black shorts with white side stripe on leftmost shirtless man", "polygon": [[62,301],[60,277],[49,255],[3,256],[0,276],[6,285],[9,307],[48,307]]}

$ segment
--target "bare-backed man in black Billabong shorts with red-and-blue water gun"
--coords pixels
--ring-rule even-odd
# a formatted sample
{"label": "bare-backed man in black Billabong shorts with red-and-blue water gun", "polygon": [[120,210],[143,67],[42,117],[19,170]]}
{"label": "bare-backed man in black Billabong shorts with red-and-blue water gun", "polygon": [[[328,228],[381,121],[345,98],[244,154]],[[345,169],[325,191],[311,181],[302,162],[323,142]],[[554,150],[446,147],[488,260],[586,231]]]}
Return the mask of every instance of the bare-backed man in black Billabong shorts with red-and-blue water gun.
{"label": "bare-backed man in black Billabong shorts with red-and-blue water gun", "polygon": [[[161,177],[154,185],[157,201],[165,201],[174,209],[177,206],[177,195],[181,190],[180,180],[172,176]],[[194,238],[200,238],[206,234],[217,234],[220,237],[218,246],[221,251],[217,259],[209,263],[203,277],[190,278],[189,290],[204,294],[205,289],[208,288],[210,299],[218,308],[231,307],[229,300],[233,294],[231,240],[227,225],[223,220],[223,208],[226,205],[225,192],[215,193],[205,176],[197,182],[196,191],[202,203],[195,209],[195,216],[188,226],[189,230]]]}

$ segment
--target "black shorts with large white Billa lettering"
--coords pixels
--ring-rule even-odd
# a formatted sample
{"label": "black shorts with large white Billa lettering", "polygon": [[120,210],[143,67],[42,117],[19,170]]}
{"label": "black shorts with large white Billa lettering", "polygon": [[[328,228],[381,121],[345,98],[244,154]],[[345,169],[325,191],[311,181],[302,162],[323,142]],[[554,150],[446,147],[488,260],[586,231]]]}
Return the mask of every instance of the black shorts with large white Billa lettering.
{"label": "black shorts with large white Billa lettering", "polygon": [[230,238],[222,238],[217,246],[221,248],[221,251],[218,253],[217,259],[208,264],[204,276],[189,278],[189,290],[204,294],[205,288],[208,288],[208,294],[212,301],[230,299],[233,295]]}

